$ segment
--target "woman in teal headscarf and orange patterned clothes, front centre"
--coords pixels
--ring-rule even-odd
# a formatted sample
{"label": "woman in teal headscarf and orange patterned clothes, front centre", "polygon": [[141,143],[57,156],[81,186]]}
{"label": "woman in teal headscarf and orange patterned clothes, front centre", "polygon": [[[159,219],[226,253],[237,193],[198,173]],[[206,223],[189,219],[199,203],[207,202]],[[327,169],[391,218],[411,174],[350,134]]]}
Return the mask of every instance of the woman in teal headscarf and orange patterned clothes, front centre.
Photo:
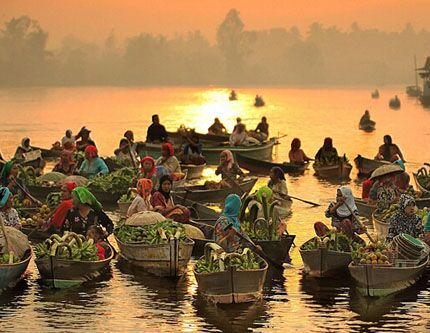
{"label": "woman in teal headscarf and orange patterned clothes, front centre", "polygon": [[240,248],[240,238],[236,231],[240,232],[239,213],[242,201],[237,194],[229,194],[225,199],[224,209],[215,223],[215,242],[226,252],[235,252]]}

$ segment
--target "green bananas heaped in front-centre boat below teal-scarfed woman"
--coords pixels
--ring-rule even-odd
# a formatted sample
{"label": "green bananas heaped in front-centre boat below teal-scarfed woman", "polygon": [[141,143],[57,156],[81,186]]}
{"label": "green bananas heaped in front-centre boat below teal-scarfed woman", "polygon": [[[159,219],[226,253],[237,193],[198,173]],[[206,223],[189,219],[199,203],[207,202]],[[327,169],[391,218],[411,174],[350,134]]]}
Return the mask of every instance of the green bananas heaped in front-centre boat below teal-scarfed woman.
{"label": "green bananas heaped in front-centre boat below teal-scarfed woman", "polygon": [[207,243],[205,252],[195,266],[196,273],[222,272],[234,267],[238,271],[259,269],[260,264],[249,248],[242,253],[226,253],[218,244]]}

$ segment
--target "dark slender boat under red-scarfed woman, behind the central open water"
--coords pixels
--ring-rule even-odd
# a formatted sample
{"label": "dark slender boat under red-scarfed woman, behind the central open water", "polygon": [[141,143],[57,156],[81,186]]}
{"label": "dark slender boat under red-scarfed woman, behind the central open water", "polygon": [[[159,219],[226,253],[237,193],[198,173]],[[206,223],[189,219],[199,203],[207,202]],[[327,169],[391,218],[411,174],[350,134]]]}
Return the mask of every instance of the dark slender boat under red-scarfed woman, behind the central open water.
{"label": "dark slender boat under red-scarfed woman, behind the central open water", "polygon": [[309,165],[309,163],[296,164],[296,163],[286,163],[286,162],[285,163],[267,162],[261,159],[243,156],[241,154],[236,154],[236,162],[239,164],[241,168],[260,175],[268,175],[270,172],[270,169],[272,169],[273,167],[279,167],[284,172],[302,173],[307,169]]}

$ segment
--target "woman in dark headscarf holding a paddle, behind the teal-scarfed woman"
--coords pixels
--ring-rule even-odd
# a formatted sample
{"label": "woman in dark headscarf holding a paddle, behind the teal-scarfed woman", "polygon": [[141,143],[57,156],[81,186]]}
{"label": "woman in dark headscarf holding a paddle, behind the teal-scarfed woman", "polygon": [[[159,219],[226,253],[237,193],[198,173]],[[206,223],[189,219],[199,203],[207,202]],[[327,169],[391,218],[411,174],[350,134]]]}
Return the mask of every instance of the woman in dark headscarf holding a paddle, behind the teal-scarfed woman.
{"label": "woman in dark headscarf holding a paddle, behind the teal-scarfed woman", "polygon": [[271,202],[278,201],[275,213],[279,219],[284,219],[290,214],[291,198],[288,196],[287,181],[284,171],[280,167],[273,167],[270,170],[270,180],[267,186],[272,190]]}

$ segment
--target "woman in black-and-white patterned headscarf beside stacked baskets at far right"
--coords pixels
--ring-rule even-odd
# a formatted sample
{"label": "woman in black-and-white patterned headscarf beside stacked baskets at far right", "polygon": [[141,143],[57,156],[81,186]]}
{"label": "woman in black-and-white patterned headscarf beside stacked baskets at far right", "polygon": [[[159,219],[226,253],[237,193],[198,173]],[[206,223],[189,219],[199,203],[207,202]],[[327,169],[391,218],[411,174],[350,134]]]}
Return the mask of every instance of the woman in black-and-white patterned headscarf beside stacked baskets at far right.
{"label": "woman in black-and-white patterned headscarf beside stacked baskets at far right", "polygon": [[390,219],[390,226],[385,239],[387,242],[391,242],[395,236],[401,233],[415,238],[423,235],[423,224],[421,218],[415,214],[415,206],[413,197],[406,194],[400,196],[399,209]]}

